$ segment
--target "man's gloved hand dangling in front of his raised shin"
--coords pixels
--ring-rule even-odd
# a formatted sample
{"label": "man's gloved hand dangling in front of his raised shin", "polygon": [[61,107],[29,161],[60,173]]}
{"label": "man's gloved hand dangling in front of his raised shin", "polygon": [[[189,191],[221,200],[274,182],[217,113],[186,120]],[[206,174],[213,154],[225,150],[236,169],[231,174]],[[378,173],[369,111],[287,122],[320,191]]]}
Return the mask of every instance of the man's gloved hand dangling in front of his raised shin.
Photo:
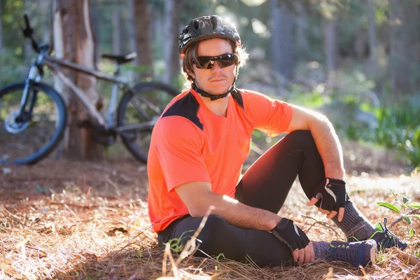
{"label": "man's gloved hand dangling in front of his raised shin", "polygon": [[[321,200],[321,201],[319,201]],[[316,205],[327,218],[334,218],[338,213],[338,221],[344,217],[344,206],[349,201],[346,193],[346,182],[339,179],[325,178],[314,192],[314,196],[307,203]]]}

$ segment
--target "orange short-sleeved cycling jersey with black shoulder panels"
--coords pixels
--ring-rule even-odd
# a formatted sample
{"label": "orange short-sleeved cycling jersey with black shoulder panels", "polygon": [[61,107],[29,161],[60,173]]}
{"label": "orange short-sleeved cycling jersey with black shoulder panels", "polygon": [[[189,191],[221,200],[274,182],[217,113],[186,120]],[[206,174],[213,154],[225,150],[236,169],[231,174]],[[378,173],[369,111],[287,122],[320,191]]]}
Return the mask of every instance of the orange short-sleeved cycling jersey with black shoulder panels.
{"label": "orange short-sleeved cycling jersey with black shoulder panels", "polygon": [[287,130],[292,107],[258,92],[234,90],[226,116],[218,116],[195,90],[172,99],[153,128],[148,153],[148,214],[153,231],[188,213],[174,188],[211,183],[211,191],[235,197],[254,129],[274,136]]}

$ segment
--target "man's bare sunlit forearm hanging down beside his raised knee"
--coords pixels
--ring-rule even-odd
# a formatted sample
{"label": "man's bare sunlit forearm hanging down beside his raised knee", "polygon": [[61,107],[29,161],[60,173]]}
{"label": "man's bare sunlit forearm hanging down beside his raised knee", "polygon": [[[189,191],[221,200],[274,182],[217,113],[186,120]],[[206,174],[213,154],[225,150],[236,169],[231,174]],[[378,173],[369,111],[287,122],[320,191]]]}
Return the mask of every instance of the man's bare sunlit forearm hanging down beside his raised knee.
{"label": "man's bare sunlit forearm hanging down beside his raised knee", "polygon": [[325,117],[316,115],[309,122],[309,130],[314,137],[316,148],[321,155],[325,176],[335,179],[344,178],[344,163],[342,146],[330,121]]}

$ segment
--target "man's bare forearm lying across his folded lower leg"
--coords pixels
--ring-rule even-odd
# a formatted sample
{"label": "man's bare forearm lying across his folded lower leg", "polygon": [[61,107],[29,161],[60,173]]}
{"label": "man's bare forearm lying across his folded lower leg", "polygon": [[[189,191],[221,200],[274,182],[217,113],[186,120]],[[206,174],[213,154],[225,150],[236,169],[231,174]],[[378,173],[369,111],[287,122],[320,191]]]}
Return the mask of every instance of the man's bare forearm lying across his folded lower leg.
{"label": "man's bare forearm lying across his folded lower leg", "polygon": [[228,223],[238,228],[253,228],[255,230],[272,230],[281,217],[264,209],[249,207],[226,195],[209,193],[200,203],[200,210],[191,216],[204,216],[210,206],[214,207],[211,214],[216,214]]}

